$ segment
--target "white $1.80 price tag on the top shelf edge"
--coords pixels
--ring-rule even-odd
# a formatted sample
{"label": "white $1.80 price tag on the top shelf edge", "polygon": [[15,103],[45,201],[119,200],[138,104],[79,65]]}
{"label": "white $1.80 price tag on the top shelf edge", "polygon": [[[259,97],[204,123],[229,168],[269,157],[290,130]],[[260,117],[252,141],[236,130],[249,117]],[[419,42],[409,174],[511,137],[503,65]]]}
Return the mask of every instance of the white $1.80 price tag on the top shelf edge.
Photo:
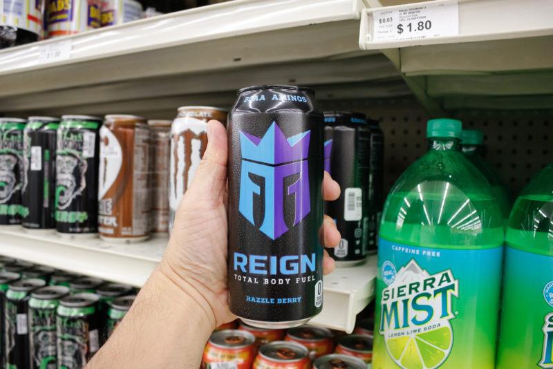
{"label": "white $1.80 price tag on the top shelf edge", "polygon": [[419,3],[373,12],[372,41],[431,39],[459,35],[458,3]]}

